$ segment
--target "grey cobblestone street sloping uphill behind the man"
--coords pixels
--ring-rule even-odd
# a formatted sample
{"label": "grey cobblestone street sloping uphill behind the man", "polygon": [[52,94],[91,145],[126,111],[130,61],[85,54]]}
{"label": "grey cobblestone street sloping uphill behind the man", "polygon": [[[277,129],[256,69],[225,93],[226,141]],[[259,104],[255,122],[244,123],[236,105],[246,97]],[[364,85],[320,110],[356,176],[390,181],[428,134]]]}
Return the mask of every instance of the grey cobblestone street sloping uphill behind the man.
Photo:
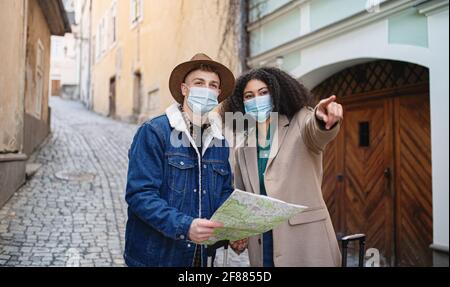
{"label": "grey cobblestone street sloping uphill behind the man", "polygon": [[[127,151],[137,126],[77,102],[52,98],[50,106],[52,134],[31,159],[42,166],[0,209],[0,266],[124,266]],[[246,253],[232,253],[229,265],[248,265]]]}

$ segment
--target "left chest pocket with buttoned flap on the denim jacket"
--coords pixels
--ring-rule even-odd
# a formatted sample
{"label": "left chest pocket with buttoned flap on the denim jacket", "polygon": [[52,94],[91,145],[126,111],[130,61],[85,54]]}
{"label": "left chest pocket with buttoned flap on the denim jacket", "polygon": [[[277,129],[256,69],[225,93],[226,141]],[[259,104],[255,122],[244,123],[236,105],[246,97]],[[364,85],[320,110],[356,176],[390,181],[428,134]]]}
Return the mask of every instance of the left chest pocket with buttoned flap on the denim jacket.
{"label": "left chest pocket with buttoned flap on the denim jacket", "polygon": [[185,192],[189,174],[195,174],[192,171],[195,162],[192,159],[177,156],[169,157],[168,163],[170,189],[179,193]]}

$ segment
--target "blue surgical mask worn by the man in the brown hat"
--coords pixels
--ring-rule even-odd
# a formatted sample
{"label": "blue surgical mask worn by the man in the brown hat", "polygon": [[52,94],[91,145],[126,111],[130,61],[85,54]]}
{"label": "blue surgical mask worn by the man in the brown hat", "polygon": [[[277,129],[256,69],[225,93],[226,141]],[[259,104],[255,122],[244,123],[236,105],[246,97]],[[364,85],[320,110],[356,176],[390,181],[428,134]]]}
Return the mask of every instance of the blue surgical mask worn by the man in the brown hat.
{"label": "blue surgical mask worn by the man in the brown hat", "polygon": [[212,89],[192,87],[189,89],[187,103],[194,113],[200,113],[203,116],[219,105],[218,96]]}

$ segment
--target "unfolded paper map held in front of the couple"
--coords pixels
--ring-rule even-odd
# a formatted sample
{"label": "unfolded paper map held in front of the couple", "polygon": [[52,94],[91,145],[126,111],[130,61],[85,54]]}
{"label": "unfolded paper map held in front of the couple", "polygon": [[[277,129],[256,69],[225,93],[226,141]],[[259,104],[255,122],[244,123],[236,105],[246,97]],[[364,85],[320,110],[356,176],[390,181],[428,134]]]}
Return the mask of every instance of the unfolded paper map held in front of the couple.
{"label": "unfolded paper map held in front of the couple", "polygon": [[307,207],[263,195],[235,190],[213,214],[211,220],[223,223],[204,244],[236,241],[262,234],[304,211]]}

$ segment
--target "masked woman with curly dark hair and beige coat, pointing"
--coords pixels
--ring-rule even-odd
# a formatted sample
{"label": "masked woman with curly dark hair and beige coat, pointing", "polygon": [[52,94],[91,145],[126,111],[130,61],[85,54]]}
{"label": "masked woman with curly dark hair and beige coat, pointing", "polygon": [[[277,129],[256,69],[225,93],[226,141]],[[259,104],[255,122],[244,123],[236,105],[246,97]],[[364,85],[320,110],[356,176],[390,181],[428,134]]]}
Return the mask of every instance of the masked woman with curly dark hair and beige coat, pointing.
{"label": "masked woman with curly dark hair and beige coat, pointing", "polygon": [[308,207],[272,231],[231,244],[237,253],[248,246],[251,266],[340,265],[321,191],[323,150],[343,118],[335,101],[331,96],[312,108],[309,91],[276,68],[254,69],[237,80],[225,111],[250,115],[256,124],[235,150],[235,188]]}

